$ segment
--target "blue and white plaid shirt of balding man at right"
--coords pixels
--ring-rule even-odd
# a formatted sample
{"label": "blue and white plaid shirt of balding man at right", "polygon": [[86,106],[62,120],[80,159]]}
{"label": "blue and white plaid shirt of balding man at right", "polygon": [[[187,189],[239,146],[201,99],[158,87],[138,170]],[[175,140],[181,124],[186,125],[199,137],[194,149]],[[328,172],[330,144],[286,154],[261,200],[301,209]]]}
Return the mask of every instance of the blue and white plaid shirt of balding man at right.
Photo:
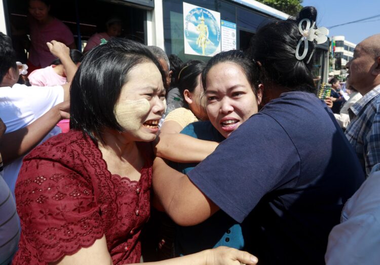
{"label": "blue and white plaid shirt of balding man at right", "polygon": [[380,85],[349,109],[351,123],[345,132],[368,176],[380,163]]}

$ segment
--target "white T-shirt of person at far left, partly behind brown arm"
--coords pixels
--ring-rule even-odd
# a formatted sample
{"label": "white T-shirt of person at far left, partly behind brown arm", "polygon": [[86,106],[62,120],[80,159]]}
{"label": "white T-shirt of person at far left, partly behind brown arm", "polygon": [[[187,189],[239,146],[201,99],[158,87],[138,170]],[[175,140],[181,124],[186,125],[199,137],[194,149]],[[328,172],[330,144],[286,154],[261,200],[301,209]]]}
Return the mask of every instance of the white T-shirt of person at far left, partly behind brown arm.
{"label": "white T-shirt of person at far left, partly behind brown arm", "polygon": [[[15,84],[13,87],[0,87],[0,117],[7,125],[5,133],[26,127],[52,107],[63,102],[63,99],[64,92],[61,86],[40,87]],[[42,142],[60,132],[61,129],[55,126]],[[12,192],[15,190],[22,158],[4,167],[4,180]]]}

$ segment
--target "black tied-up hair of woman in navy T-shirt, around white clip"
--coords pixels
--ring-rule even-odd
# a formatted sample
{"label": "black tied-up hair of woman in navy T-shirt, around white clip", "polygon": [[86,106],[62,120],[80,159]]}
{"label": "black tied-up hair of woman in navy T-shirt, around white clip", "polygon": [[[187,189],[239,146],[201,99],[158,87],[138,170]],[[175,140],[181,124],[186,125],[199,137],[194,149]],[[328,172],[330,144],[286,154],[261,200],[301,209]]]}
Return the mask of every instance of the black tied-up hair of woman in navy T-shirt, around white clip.
{"label": "black tied-up hair of woman in navy T-shirt, around white clip", "polygon": [[[296,18],[273,21],[263,25],[255,36],[252,47],[252,57],[261,66],[260,79],[266,83],[274,83],[288,91],[307,91],[316,93],[313,82],[313,58],[317,43],[308,41],[309,49],[306,57],[298,60],[295,51],[302,35],[298,23],[307,18],[311,24],[317,19],[314,7],[303,8]],[[303,53],[304,41],[301,41],[299,54]]]}

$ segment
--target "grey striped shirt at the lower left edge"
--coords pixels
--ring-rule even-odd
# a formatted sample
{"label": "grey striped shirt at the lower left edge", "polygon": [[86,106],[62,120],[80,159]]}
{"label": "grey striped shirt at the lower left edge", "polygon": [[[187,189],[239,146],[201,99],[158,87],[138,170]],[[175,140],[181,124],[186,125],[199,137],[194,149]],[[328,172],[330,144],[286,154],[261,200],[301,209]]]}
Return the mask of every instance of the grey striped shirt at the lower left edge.
{"label": "grey striped shirt at the lower left edge", "polygon": [[12,261],[19,239],[16,203],[11,190],[3,179],[3,162],[0,159],[0,265],[9,264]]}

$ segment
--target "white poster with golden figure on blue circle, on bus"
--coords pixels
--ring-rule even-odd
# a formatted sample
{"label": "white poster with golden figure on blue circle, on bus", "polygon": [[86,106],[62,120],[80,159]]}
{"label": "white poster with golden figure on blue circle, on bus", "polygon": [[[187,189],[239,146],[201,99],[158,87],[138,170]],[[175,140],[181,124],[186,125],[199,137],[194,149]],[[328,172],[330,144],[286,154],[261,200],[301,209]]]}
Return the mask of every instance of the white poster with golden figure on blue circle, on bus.
{"label": "white poster with golden figure on blue circle, on bus", "polygon": [[183,29],[185,54],[220,52],[220,13],[183,3]]}

